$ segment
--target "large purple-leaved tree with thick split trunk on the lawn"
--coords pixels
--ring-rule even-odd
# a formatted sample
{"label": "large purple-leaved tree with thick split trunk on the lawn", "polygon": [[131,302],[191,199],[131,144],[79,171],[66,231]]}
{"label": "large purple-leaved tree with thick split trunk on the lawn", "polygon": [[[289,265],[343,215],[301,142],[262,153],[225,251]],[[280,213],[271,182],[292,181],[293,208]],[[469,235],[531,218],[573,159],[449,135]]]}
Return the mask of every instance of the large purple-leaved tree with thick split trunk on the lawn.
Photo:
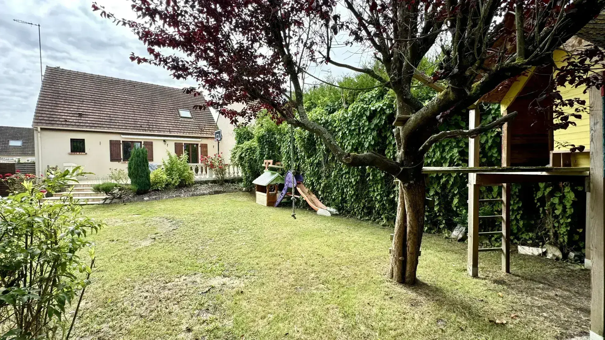
{"label": "large purple-leaved tree with thick split trunk on the lawn", "polygon": [[[552,64],[553,51],[605,6],[605,0],[131,2],[136,21],[116,18],[96,3],[93,10],[130,28],[148,47],[149,56],[133,54],[133,61],[166,68],[177,79],[195,79],[200,88],[186,91],[201,95],[206,90],[208,105],[221,108],[232,122],[250,120],[266,108],[275,119],[319,136],[345,165],[373,166],[400,180],[389,275],[408,284],[416,281],[424,229],[425,152],[438,140],[476,136],[515,114],[470,131],[436,133],[439,124],[528,68]],[[333,57],[336,48],[347,46],[365,49],[373,59],[368,64],[378,67],[349,65]],[[430,51],[439,54],[439,64],[427,77],[418,67]],[[602,77],[590,74],[586,64],[603,60],[602,53],[595,47],[585,53],[592,57],[583,65],[570,60],[557,80],[600,86]],[[407,119],[394,129],[395,159],[372,150],[350,152],[309,119],[302,101],[304,78],[321,63],[368,74],[378,86],[393,90],[397,117]],[[411,93],[418,82],[440,93],[422,103]],[[557,101],[554,93],[544,94],[551,103]],[[226,109],[236,102],[245,103],[244,110]],[[560,107],[581,103],[560,102]],[[557,119],[552,128],[571,123],[563,111]]]}

